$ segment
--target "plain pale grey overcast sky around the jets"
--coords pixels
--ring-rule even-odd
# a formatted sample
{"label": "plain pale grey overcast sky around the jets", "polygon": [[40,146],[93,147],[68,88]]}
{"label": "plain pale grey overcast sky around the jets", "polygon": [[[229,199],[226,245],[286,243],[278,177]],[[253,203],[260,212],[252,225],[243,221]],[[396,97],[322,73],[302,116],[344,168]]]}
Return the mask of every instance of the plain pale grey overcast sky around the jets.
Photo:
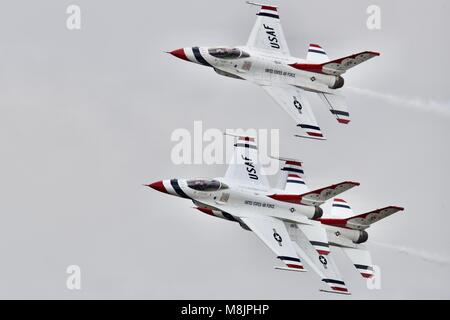
{"label": "plain pale grey overcast sky around the jets", "polygon": [[[381,52],[346,74],[352,122],[315,96],[328,140],[294,122],[260,88],[163,51],[245,44],[244,1],[2,1],[0,4],[0,298],[450,298],[449,3],[274,1],[293,55]],[[66,8],[81,7],[81,30]],[[381,30],[366,8],[381,7]],[[222,176],[225,165],[175,165],[171,133],[279,128],[281,153],[316,188],[342,180],[355,212],[405,207],[369,229],[382,290],[336,260],[353,295],[320,293],[313,273],[279,264],[251,232],[143,187]],[[327,208],[327,207],[325,207]],[[66,288],[79,265],[82,290]]]}

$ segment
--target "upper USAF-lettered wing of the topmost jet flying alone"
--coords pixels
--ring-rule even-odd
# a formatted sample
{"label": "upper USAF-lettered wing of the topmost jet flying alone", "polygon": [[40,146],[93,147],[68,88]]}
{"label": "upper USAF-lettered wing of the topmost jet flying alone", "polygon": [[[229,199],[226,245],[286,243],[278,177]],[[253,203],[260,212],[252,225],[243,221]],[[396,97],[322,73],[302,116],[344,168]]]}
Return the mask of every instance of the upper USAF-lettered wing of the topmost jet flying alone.
{"label": "upper USAF-lettered wing of the topmost jet flying alone", "polygon": [[249,1],[247,3],[260,7],[247,46],[290,56],[277,7]]}

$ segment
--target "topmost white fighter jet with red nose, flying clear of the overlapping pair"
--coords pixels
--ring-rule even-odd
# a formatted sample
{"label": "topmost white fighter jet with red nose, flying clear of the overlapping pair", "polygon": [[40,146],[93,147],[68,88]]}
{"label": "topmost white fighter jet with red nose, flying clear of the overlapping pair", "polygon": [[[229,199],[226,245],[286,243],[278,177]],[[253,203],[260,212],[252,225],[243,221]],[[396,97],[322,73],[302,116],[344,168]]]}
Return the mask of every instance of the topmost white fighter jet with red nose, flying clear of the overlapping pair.
{"label": "topmost white fighter jet with red nose, flying clear of the overlapping pair", "polygon": [[345,98],[336,92],[344,86],[348,69],[378,56],[364,51],[330,60],[324,49],[310,44],[306,59],[292,57],[276,6],[259,6],[256,23],[245,46],[191,47],[170,53],[180,59],[212,67],[218,74],[260,85],[301,129],[298,137],[324,140],[305,91],[317,93],[339,123],[350,122]]}

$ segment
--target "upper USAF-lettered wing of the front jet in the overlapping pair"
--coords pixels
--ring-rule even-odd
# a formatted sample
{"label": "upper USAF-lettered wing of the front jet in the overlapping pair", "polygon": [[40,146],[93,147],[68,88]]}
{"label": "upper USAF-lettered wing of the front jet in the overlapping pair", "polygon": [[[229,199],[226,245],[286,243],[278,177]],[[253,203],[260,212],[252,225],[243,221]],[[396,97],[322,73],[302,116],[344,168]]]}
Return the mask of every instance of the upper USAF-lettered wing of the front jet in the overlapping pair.
{"label": "upper USAF-lettered wing of the front jet in the overlapping pair", "polygon": [[259,163],[255,138],[237,137],[233,158],[225,173],[225,179],[256,189],[270,188],[269,181]]}

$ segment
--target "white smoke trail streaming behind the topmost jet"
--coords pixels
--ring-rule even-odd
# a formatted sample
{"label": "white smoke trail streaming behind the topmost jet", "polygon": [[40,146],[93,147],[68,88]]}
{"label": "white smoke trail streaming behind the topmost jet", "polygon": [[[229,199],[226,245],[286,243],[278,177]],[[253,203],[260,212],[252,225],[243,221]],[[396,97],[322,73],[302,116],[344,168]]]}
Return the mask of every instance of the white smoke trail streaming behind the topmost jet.
{"label": "white smoke trail streaming behind the topmost jet", "polygon": [[438,115],[445,115],[450,117],[450,101],[439,102],[432,99],[420,99],[420,98],[406,98],[396,96],[388,93],[376,92],[369,89],[361,89],[356,87],[347,87],[349,91],[359,95],[365,95],[370,98],[383,100],[385,103],[393,104],[396,106],[403,106],[407,108],[414,108],[419,111],[433,112]]}

